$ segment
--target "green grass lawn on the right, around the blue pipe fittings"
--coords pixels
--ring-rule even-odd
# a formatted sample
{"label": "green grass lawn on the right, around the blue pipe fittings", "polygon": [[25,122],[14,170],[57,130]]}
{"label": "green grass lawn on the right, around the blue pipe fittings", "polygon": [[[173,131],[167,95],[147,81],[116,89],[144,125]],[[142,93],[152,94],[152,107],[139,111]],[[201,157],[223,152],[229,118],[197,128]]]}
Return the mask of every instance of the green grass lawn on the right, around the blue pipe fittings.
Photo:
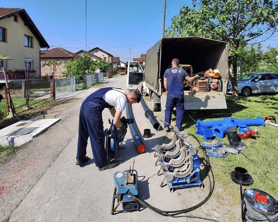
{"label": "green grass lawn on the right, around the blue pipe fittings", "polygon": [[[145,99],[145,98],[144,98]],[[230,95],[226,99],[232,99]],[[194,120],[218,120],[224,117],[256,118],[257,116],[264,117],[269,115],[278,115],[278,94],[270,95],[254,95],[250,97],[240,97],[236,104],[227,103],[225,110],[201,110],[197,114],[191,115]],[[175,120],[175,113],[172,116]],[[185,132],[195,135],[195,122],[185,112],[183,118]],[[251,127],[255,129],[255,127]],[[229,173],[234,170],[236,166],[242,166],[248,170],[248,173],[254,178],[254,183],[249,186],[263,190],[278,199],[278,128],[266,125],[265,127],[258,126],[259,135],[256,139],[243,139],[247,144],[242,152],[247,155],[254,163],[250,162],[242,154],[228,155],[225,158],[210,158],[212,170],[214,172],[215,181],[220,184],[225,191],[236,198],[237,202],[240,200],[239,185],[231,181]],[[202,142],[202,136],[196,135]],[[221,139],[229,144],[227,137]],[[199,152],[200,154],[200,152]],[[271,178],[270,181],[267,176]]]}

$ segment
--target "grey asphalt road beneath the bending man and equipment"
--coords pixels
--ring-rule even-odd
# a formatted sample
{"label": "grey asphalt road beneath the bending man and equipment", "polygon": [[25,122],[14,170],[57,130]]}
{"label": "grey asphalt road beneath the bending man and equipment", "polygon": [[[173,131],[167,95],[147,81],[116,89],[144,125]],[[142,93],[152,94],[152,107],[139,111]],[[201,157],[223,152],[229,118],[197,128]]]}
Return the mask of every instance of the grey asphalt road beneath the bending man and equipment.
{"label": "grey asphalt road beneath the bending man and equipment", "polygon": [[[126,89],[126,76],[109,79],[103,87]],[[125,137],[125,149],[119,150],[124,158],[114,169],[98,171],[94,164],[90,143],[87,155],[91,158],[84,167],[75,165],[78,138],[78,115],[82,101],[96,88],[75,94],[78,100],[52,107],[35,118],[57,118],[62,120],[47,132],[24,145],[8,162],[0,165],[0,221],[206,221],[192,218],[168,218],[149,209],[141,212],[110,215],[113,195],[113,173],[128,170],[135,159],[134,168],[139,174],[139,197],[163,210],[178,210],[193,206],[207,195],[205,188],[189,188],[170,193],[167,186],[159,186],[162,175],[157,176],[153,150],[163,143],[165,131],[156,132],[145,139],[146,151],[136,151],[130,132]],[[151,128],[144,116],[141,104],[133,104],[135,120],[140,131]],[[126,113],[124,111],[124,115]],[[103,112],[105,128],[111,115]],[[169,134],[168,134],[169,135]],[[219,221],[240,221],[240,207],[233,206],[229,197],[216,184],[210,200],[199,209],[188,213]]]}

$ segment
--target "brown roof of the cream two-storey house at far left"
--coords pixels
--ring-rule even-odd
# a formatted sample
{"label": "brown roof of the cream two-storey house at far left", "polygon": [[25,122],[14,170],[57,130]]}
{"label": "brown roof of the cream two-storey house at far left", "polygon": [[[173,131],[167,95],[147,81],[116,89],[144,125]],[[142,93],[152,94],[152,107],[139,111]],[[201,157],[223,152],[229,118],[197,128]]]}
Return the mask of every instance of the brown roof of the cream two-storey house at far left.
{"label": "brown roof of the cream two-storey house at far left", "polygon": [[18,14],[21,19],[25,22],[25,25],[30,29],[30,31],[34,34],[36,39],[39,41],[39,45],[41,48],[49,48],[48,43],[39,32],[38,28],[35,26],[32,19],[29,17],[25,9],[23,8],[0,8],[0,20],[5,19],[7,17],[13,16],[14,14]]}

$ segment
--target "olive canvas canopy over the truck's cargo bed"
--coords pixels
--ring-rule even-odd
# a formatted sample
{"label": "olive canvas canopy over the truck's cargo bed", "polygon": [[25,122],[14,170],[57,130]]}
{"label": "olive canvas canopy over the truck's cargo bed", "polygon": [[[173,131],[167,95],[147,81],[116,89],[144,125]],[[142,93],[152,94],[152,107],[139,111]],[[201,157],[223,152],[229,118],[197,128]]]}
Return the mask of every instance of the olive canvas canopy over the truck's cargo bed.
{"label": "olive canvas canopy over the truck's cargo bed", "polygon": [[163,38],[151,47],[146,55],[145,81],[158,89],[158,78],[163,79],[174,58],[180,64],[192,65],[193,73],[211,68],[218,69],[223,79],[228,77],[227,42],[193,36]]}

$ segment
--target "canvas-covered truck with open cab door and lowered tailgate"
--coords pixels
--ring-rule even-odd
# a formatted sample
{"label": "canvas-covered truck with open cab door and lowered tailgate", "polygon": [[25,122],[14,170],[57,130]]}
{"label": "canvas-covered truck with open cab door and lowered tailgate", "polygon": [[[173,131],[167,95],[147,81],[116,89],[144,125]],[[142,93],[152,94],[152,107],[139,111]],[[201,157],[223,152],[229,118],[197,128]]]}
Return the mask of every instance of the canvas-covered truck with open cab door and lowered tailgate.
{"label": "canvas-covered truck with open cab door and lowered tailgate", "polygon": [[[174,58],[180,60],[180,67],[189,76],[198,74],[200,79],[184,82],[186,110],[227,109],[228,43],[223,41],[196,36],[160,39],[147,51],[145,70],[138,62],[128,62],[127,89],[136,89],[143,81],[140,89],[143,95],[150,96],[151,109],[164,111],[167,94],[163,75]],[[215,73],[213,70],[217,70],[218,76],[210,75]]]}

